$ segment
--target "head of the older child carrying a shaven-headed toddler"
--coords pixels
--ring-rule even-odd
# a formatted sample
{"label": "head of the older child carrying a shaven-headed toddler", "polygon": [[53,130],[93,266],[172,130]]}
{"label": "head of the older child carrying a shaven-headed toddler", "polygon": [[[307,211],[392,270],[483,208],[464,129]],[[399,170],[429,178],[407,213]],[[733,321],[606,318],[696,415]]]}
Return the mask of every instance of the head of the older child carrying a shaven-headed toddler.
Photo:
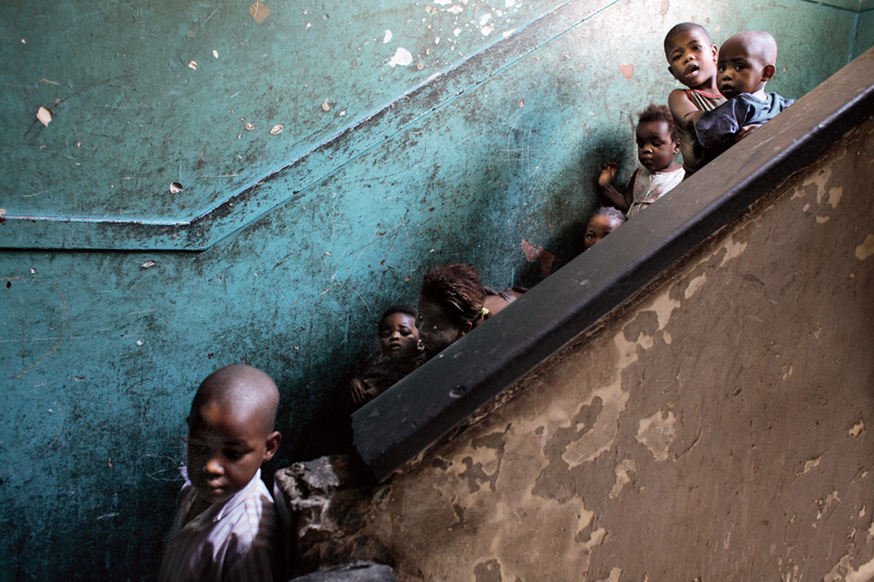
{"label": "head of the older child carrying a shaven-headed toddler", "polygon": [[717,46],[699,24],[682,22],[664,37],[668,70],[689,88],[707,86],[717,74]]}

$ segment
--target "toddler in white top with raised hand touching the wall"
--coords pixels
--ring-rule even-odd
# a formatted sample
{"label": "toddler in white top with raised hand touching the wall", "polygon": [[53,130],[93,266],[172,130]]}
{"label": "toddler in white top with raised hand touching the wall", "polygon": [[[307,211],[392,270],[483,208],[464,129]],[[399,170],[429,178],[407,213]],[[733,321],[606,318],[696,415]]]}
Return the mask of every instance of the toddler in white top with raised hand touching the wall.
{"label": "toddler in white top with raised hand touching the wall", "polygon": [[668,193],[683,181],[683,167],[674,156],[680,152],[680,135],[668,107],[650,105],[639,115],[635,130],[637,157],[642,167],[631,176],[625,192],[613,187],[615,163],[604,164],[598,185],[601,191],[628,218]]}

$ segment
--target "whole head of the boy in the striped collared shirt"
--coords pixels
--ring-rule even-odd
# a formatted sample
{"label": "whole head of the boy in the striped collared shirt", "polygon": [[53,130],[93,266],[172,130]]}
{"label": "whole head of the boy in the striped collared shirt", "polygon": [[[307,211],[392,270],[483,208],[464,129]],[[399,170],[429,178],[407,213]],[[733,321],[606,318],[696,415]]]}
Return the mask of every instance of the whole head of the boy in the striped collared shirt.
{"label": "whole head of the boy in the striped collared shirt", "polygon": [[227,366],[198,388],[188,419],[188,478],[210,502],[243,490],[279,449],[273,430],[280,393],[250,366]]}

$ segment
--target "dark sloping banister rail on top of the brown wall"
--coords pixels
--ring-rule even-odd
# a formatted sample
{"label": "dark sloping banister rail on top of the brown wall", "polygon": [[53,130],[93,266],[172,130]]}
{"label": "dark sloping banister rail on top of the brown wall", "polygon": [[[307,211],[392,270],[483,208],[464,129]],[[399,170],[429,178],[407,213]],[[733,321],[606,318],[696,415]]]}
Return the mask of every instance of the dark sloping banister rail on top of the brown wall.
{"label": "dark sloping banister rail on top of the brown wall", "polygon": [[874,48],[588,252],[353,414],[383,479],[874,111]]}

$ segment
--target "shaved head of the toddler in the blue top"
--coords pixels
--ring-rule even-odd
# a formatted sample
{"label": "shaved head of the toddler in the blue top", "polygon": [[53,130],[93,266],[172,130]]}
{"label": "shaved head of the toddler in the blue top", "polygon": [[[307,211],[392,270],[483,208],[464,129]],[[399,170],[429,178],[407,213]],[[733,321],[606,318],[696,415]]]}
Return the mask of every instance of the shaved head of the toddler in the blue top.
{"label": "shaved head of the toddler in the blue top", "polygon": [[717,82],[725,98],[756,93],[771,80],[777,62],[777,41],[764,31],[740,33],[719,49]]}

